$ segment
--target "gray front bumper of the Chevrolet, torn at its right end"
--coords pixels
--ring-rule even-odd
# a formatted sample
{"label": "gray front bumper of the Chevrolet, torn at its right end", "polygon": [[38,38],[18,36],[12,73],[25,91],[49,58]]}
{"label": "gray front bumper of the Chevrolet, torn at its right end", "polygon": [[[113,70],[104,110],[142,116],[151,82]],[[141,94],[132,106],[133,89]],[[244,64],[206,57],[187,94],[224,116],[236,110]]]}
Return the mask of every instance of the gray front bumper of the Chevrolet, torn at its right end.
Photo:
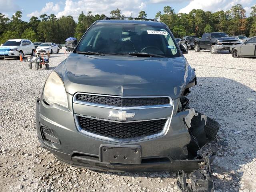
{"label": "gray front bumper of the Chevrolet, torn at its right end", "polygon": [[[71,97],[71,96],[70,96]],[[69,99],[68,99],[69,100]],[[76,128],[74,114],[61,106],[49,107],[40,100],[36,103],[36,126],[38,140],[59,160],[72,166],[94,170],[112,171],[163,171],[184,170],[191,172],[198,169],[198,163],[204,159],[184,160],[188,157],[187,144],[190,134],[183,118],[188,112],[181,112],[172,117],[168,132],[148,140],[116,143],[82,134]],[[56,142],[45,140],[41,126],[52,129]],[[138,145],[141,147],[141,164],[104,163],[100,159],[99,148],[102,144]]]}

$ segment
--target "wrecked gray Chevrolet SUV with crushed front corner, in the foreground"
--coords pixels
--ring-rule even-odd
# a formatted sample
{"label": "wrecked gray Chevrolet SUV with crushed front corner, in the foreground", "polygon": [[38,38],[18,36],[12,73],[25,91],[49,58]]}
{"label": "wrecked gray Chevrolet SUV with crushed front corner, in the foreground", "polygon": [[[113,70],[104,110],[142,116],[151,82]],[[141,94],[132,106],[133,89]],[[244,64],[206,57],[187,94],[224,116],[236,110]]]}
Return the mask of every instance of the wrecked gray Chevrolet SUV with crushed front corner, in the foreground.
{"label": "wrecked gray Chevrolet SUV with crushed front corner, in the foreground", "polygon": [[188,107],[196,74],[185,47],[156,20],[94,22],[37,100],[42,146],[95,170],[179,170],[182,178],[201,163],[210,175],[214,153],[197,152],[219,124]]}

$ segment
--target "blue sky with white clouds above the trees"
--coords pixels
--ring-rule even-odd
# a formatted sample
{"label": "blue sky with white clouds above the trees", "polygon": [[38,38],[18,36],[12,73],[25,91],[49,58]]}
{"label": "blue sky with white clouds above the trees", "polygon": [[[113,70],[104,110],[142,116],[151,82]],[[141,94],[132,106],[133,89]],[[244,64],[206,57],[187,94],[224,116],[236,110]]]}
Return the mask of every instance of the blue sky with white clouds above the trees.
{"label": "blue sky with white clouds above the trees", "polygon": [[256,0],[0,0],[0,13],[9,18],[18,10],[22,12],[22,20],[29,21],[31,16],[39,17],[41,14],[55,14],[73,16],[77,21],[79,14],[92,11],[93,14],[110,16],[110,11],[119,8],[125,16],[137,17],[141,10],[154,18],[164,6],[172,7],[176,13],[188,13],[192,9],[216,12],[229,10],[233,5],[242,4],[249,16],[250,8]]}

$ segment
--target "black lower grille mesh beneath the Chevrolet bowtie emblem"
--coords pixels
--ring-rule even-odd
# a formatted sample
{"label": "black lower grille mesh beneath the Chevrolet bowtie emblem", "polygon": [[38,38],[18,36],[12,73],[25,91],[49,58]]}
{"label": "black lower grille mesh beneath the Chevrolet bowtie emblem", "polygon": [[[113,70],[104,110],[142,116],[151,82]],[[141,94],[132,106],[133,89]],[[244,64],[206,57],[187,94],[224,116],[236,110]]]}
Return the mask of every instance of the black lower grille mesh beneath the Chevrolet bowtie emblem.
{"label": "black lower grille mesh beneath the Chevrolet bowtie emblem", "polygon": [[80,127],[94,134],[111,138],[136,138],[162,132],[166,119],[118,123],[78,116]]}

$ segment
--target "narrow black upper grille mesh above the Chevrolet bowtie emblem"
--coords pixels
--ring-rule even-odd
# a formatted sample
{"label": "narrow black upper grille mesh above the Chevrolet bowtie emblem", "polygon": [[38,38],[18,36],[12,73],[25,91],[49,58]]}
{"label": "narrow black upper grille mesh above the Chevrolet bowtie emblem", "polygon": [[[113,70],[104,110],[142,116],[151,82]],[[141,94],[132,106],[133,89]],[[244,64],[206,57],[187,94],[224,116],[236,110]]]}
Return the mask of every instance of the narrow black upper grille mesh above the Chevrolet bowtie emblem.
{"label": "narrow black upper grille mesh above the Chevrolet bowtie emblem", "polygon": [[114,97],[90,94],[77,94],[76,100],[115,107],[154,106],[170,104],[168,97]]}

